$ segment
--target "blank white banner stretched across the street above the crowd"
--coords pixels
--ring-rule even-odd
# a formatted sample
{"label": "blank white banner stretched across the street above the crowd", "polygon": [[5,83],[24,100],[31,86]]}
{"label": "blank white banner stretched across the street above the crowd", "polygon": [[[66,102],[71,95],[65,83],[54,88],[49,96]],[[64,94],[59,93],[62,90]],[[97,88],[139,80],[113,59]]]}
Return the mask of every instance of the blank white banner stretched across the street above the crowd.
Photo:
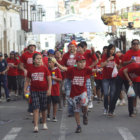
{"label": "blank white banner stretched across the street above the crowd", "polygon": [[106,32],[101,20],[33,22],[33,34],[65,34],[77,32]]}

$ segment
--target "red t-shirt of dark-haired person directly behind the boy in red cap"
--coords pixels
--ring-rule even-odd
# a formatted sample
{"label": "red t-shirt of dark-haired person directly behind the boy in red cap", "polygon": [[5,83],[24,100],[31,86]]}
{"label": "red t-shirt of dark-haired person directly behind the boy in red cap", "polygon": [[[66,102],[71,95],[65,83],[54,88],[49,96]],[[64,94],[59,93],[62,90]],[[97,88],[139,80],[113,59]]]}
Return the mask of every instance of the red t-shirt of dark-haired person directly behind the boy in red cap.
{"label": "red t-shirt of dark-haired person directly behind the boy in red cap", "polygon": [[91,54],[91,50],[86,50],[83,54],[83,56],[86,58],[86,66],[92,65],[92,63],[97,60],[97,57],[95,53]]}

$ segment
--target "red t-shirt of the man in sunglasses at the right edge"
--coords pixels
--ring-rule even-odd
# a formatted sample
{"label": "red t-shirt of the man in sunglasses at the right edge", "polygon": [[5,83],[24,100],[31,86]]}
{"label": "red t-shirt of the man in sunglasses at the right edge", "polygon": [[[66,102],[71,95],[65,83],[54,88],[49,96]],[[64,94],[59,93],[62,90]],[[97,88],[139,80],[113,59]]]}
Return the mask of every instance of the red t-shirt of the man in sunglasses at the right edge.
{"label": "red t-shirt of the man in sunglasses at the right edge", "polygon": [[[130,61],[132,56],[135,57],[136,63],[140,63],[140,50],[138,51],[128,50],[126,54],[123,56],[122,63],[125,61]],[[134,82],[140,82],[140,76],[137,78],[134,78],[133,80]]]}

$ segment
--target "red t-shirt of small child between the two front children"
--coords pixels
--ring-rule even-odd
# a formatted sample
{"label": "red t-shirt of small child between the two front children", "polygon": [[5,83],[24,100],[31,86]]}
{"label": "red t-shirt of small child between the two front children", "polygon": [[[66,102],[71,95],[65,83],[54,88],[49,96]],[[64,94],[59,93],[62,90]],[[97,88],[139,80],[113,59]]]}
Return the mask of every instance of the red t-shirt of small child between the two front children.
{"label": "red t-shirt of small child between the two front children", "polygon": [[[55,68],[54,70],[49,70],[49,71],[51,75],[52,75],[52,72],[54,72],[56,78],[62,79],[61,71],[58,68]],[[59,96],[59,95],[60,95],[60,82],[52,80],[51,96]]]}

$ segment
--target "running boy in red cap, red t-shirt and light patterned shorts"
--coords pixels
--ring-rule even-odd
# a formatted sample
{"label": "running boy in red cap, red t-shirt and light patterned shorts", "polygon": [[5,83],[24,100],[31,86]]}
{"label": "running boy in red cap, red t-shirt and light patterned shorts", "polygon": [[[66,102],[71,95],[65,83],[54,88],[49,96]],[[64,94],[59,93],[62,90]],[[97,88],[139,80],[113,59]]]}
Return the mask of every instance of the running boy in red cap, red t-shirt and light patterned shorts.
{"label": "running boy in red cap, red t-shirt and light patterned shorts", "polygon": [[75,120],[77,123],[75,133],[80,133],[80,109],[82,109],[83,112],[83,124],[88,124],[88,97],[86,89],[87,76],[92,75],[92,72],[97,72],[97,70],[86,67],[86,60],[83,55],[78,55],[76,57],[77,67],[63,67],[54,58],[52,58],[52,61],[55,62],[60,69],[67,71],[67,77],[71,80],[70,97],[73,99]]}

